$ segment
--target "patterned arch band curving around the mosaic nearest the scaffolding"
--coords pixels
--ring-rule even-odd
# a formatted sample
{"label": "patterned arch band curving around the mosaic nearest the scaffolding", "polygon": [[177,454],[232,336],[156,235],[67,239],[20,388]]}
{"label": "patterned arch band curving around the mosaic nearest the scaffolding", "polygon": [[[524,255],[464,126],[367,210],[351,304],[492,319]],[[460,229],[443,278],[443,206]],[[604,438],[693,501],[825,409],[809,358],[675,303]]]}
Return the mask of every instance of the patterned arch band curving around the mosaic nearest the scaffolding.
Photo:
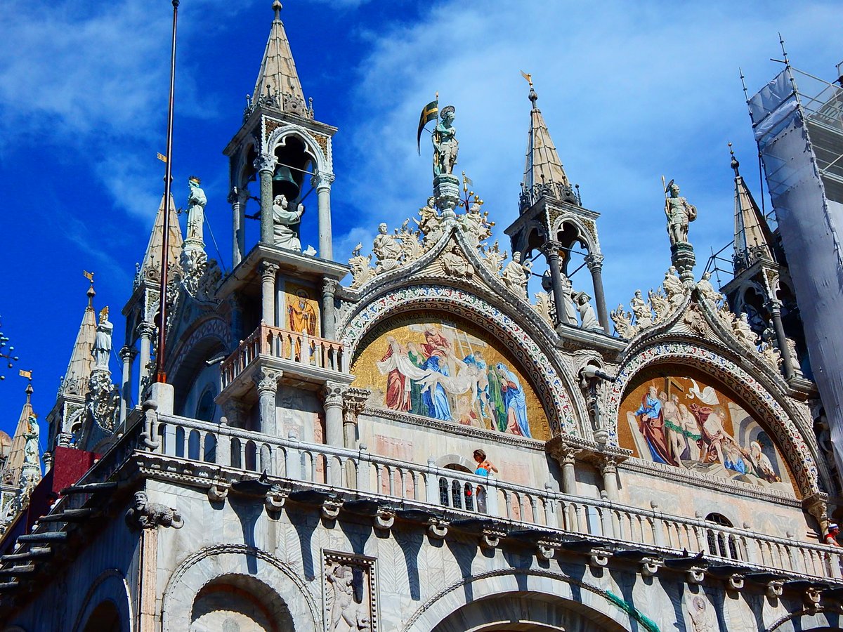
{"label": "patterned arch band curving around the mosaic nearest the scaffolding", "polygon": [[722,356],[718,351],[703,346],[699,342],[654,341],[624,360],[618,370],[617,380],[610,386],[606,396],[606,419],[610,442],[618,445],[620,404],[636,375],[648,367],[677,363],[696,367],[711,375],[749,404],[776,437],[776,443],[790,465],[803,497],[819,491],[817,465],[808,442],[792,419],[791,413],[753,375]]}

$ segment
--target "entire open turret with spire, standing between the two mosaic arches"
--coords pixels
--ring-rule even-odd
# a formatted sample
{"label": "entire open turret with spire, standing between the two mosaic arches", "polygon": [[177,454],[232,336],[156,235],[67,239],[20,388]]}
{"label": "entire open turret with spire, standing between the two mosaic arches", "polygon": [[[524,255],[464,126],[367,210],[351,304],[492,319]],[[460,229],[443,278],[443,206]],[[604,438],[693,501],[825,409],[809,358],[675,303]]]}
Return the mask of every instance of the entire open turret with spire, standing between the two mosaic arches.
{"label": "entire open turret with spire, standing between the two mosaic arches", "polygon": [[[524,163],[524,181],[518,203],[518,219],[507,229],[512,240],[513,253],[520,253],[521,260],[531,260],[533,251],[545,254],[548,276],[556,308],[556,325],[577,327],[573,315],[574,297],[578,302],[588,301],[585,292],[573,292],[568,276],[575,266],[574,255],[584,258],[584,265],[591,272],[593,298],[600,327],[609,334],[609,318],[603,291],[603,254],[597,237],[597,220],[600,214],[583,206],[579,190],[572,187],[562,166],[556,147],[550,138],[545,117],[536,105],[539,96],[529,81],[530,126],[527,137],[527,156]],[[547,278],[547,276],[545,276]]]}

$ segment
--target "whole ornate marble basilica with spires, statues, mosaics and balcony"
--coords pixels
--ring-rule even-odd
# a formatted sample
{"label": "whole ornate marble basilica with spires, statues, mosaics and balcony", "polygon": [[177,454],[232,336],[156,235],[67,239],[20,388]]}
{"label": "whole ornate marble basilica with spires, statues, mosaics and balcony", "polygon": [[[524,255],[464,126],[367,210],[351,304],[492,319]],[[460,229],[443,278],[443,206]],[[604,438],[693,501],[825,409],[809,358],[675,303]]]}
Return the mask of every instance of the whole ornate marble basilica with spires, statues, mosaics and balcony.
{"label": "whole ornate marble basilica with spires, statues, mosaics and balcony", "polygon": [[533,84],[512,214],[470,195],[436,104],[429,199],[346,265],[336,128],[274,10],[224,152],[234,270],[207,257],[191,179],[186,233],[162,200],[127,292],[120,376],[91,292],[46,474],[0,541],[0,629],[839,629],[840,477],[787,319],[798,297],[737,160],[731,285],[695,277],[696,210],[671,182],[673,265],[609,310],[599,212]]}

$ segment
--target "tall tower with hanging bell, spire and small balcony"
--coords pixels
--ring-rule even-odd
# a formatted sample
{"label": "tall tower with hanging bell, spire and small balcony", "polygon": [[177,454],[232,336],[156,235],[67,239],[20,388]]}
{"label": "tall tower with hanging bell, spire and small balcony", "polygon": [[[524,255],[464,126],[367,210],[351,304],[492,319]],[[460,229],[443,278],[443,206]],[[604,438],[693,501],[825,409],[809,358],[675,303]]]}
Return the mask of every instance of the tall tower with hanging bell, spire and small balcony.
{"label": "tall tower with hanging bell, spire and small balcony", "polygon": [[[283,431],[285,391],[314,391],[325,404],[325,442],[342,446],[342,393],[353,378],[336,340],[335,292],[348,273],[331,251],[336,127],[314,119],[281,21],[281,3],[275,0],[272,9],[275,18],[243,124],[223,151],[230,165],[234,270],[217,298],[234,348],[220,365],[214,401],[229,425],[277,437]],[[313,200],[311,190],[316,212],[303,204]],[[247,216],[250,200],[260,208]],[[249,217],[260,218],[260,237],[251,246],[244,231]],[[299,230],[305,222],[318,222],[318,251],[302,248]]]}

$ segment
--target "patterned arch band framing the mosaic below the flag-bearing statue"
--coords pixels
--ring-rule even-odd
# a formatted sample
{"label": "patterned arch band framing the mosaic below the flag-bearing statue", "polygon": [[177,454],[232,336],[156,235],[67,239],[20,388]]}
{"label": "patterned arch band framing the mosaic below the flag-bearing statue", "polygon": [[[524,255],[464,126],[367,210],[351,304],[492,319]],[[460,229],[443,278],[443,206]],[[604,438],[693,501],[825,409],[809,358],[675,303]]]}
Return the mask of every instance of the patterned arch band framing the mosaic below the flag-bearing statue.
{"label": "patterned arch band framing the mosaic below the flag-bearing statue", "polygon": [[570,376],[556,372],[540,346],[518,323],[469,292],[453,287],[421,285],[403,287],[374,299],[353,316],[342,333],[342,340],[352,352],[352,358],[357,358],[357,345],[370,329],[411,308],[426,311],[442,308],[455,318],[475,324],[491,334],[500,344],[499,348],[510,354],[532,383],[537,398],[544,406],[550,433],[565,432],[583,437],[578,419],[587,417],[583,410],[576,410],[572,404]]}

